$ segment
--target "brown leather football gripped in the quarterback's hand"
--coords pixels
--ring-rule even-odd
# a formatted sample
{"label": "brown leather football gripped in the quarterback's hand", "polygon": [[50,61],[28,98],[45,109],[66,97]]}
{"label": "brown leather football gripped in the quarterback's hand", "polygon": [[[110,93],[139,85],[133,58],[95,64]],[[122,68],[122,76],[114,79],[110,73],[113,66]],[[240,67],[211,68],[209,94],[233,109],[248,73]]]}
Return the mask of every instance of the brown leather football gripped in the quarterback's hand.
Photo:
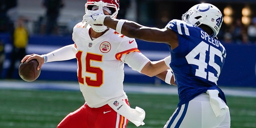
{"label": "brown leather football gripped in the quarterback's hand", "polygon": [[32,82],[38,78],[41,73],[41,69],[37,70],[38,62],[36,59],[30,60],[29,62],[21,63],[19,66],[20,78],[27,82]]}

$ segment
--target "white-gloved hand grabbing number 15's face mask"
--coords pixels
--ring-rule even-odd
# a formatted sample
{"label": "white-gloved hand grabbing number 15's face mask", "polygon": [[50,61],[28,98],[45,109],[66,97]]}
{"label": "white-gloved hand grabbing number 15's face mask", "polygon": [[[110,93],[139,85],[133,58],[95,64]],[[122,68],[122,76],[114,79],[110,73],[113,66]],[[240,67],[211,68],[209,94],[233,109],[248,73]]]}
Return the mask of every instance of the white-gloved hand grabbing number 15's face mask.
{"label": "white-gloved hand grabbing number 15's face mask", "polygon": [[[103,24],[106,15],[103,12],[103,2],[95,2],[98,4],[98,10],[87,10],[86,14],[83,16],[83,24]],[[87,25],[86,25],[87,26]]]}

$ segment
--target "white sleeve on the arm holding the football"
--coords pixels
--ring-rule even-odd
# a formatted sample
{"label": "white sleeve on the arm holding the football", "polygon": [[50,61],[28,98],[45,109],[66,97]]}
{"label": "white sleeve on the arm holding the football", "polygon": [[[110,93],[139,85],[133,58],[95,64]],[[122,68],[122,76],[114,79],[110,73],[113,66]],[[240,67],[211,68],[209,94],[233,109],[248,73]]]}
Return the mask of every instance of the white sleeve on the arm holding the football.
{"label": "white sleeve on the arm holding the football", "polygon": [[62,48],[59,48],[57,50],[54,50],[54,51],[46,54],[46,56],[47,56],[47,62],[74,59],[74,58],[76,58],[75,46],[74,46],[74,44],[64,46]]}

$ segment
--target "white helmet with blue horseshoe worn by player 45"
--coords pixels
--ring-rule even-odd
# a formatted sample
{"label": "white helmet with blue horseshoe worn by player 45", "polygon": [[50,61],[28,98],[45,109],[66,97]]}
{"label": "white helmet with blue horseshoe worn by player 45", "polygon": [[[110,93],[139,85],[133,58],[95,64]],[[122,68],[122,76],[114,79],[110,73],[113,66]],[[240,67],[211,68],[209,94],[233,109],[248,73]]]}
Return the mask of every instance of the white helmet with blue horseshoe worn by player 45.
{"label": "white helmet with blue horseshoe worn by player 45", "polygon": [[220,31],[223,16],[216,6],[202,3],[191,7],[188,12],[182,15],[182,20],[195,26],[201,24],[209,26],[213,30],[210,36],[215,37]]}

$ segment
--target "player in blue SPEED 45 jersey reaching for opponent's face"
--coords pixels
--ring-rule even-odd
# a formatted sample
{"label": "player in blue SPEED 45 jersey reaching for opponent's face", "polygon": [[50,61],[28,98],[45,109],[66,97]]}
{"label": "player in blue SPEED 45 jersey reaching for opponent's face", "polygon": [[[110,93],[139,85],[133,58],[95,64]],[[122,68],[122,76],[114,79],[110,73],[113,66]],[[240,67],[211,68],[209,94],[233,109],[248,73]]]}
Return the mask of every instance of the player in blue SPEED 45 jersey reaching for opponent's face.
{"label": "player in blue SPEED 45 jersey reaching for opponent's face", "polygon": [[83,17],[84,24],[104,24],[130,38],[167,44],[170,70],[160,78],[170,83],[174,76],[179,103],[164,128],[230,128],[226,98],[217,85],[226,58],[216,38],[222,21],[220,10],[207,3],[192,6],[182,20],[171,20],[162,29],[111,19],[101,8]]}

